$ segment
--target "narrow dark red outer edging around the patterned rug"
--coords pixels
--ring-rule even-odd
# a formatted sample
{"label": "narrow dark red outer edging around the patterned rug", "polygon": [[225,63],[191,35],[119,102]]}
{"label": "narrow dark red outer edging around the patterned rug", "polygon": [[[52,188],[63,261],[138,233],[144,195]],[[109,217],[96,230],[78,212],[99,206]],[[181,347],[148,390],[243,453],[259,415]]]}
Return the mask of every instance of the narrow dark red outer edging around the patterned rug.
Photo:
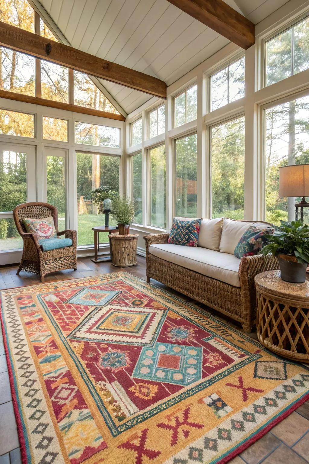
{"label": "narrow dark red outer edging around the patterned rug", "polygon": [[[122,272],[126,272],[126,271],[122,271]],[[104,276],[104,275],[107,275],[107,274],[111,274],[111,272],[108,272],[106,274],[99,274],[99,275],[97,275],[95,277],[101,277],[101,276]],[[127,273],[127,274],[129,274],[129,273]],[[139,279],[139,277],[137,277],[137,276],[134,276],[134,277]],[[63,282],[65,282],[67,280],[83,280],[83,279],[87,279],[87,278],[88,277],[82,277],[82,278],[79,277],[77,279],[74,279],[74,278],[65,279]],[[143,279],[140,279],[140,280],[145,282]],[[55,282],[60,284],[62,281],[57,280]],[[45,284],[49,284],[49,282],[48,283],[46,282]],[[33,284],[26,285],[26,286],[27,287],[33,287],[33,286],[35,286],[35,284],[34,285]],[[151,286],[152,286],[152,288],[155,289],[155,286],[153,284],[151,284]],[[17,289],[17,288],[24,288],[24,287],[25,286],[14,287],[14,290]],[[3,290],[9,290],[9,289],[3,289]],[[162,290],[162,289],[160,289],[160,290]],[[166,293],[168,293],[168,292],[166,291]],[[175,295],[173,295],[173,294],[171,294],[171,295],[175,297]],[[27,457],[27,450],[26,450],[26,445],[25,445],[24,428],[23,428],[22,421],[21,421],[20,414],[19,414],[19,401],[18,401],[18,398],[17,398],[17,394],[15,392],[13,369],[12,369],[12,366],[11,366],[11,362],[9,362],[10,361],[10,354],[9,354],[8,342],[7,342],[6,331],[5,331],[5,326],[4,326],[4,317],[3,317],[3,314],[2,314],[1,298],[0,298],[0,309],[1,309],[0,310],[0,321],[1,321],[2,336],[3,336],[3,345],[4,345],[5,354],[6,354],[6,364],[7,364],[7,370],[8,370],[8,375],[9,375],[9,381],[10,381],[10,389],[11,389],[11,395],[12,395],[12,401],[13,401],[13,409],[14,409],[16,425],[17,425],[17,432],[18,432],[18,438],[19,438],[21,460],[22,460],[23,464],[27,464],[28,463],[28,457]],[[207,315],[208,315],[208,311],[207,311]],[[216,316],[212,315],[211,313],[209,314],[209,316],[216,318]],[[222,323],[222,321],[220,321],[220,320],[219,320],[219,322]],[[225,322],[223,322],[223,323],[225,324]],[[240,332],[240,333],[242,334],[242,332]],[[277,356],[277,357],[279,357],[279,356]],[[291,362],[291,364],[298,364],[298,363]],[[288,409],[286,411],[284,411],[282,414],[280,414],[276,419],[272,420],[270,424],[266,425],[262,430],[260,430],[258,433],[256,433],[253,437],[248,438],[245,443],[238,446],[235,450],[231,451],[228,455],[224,456],[222,459],[217,461],[216,464],[227,464],[233,458],[235,458],[236,456],[239,456],[243,451],[245,451],[247,448],[249,448],[251,445],[253,445],[253,443],[257,442],[260,438],[264,437],[264,435],[266,435],[266,433],[268,433],[273,427],[275,427],[281,421],[286,419],[292,412],[296,411],[296,409],[299,408],[300,406],[302,406],[303,403],[305,403],[307,400],[309,400],[309,393],[305,394],[303,396],[303,398],[300,398],[293,405],[288,407]]]}

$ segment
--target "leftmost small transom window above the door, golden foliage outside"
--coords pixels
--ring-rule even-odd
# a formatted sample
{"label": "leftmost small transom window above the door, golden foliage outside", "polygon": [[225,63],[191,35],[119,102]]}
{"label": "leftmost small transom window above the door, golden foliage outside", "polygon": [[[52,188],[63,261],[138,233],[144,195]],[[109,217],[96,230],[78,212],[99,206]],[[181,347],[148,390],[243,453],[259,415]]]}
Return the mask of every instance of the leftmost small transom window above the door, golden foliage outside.
{"label": "leftmost small transom window above the door, golden foliage outside", "polygon": [[34,116],[17,111],[0,110],[0,134],[34,137]]}

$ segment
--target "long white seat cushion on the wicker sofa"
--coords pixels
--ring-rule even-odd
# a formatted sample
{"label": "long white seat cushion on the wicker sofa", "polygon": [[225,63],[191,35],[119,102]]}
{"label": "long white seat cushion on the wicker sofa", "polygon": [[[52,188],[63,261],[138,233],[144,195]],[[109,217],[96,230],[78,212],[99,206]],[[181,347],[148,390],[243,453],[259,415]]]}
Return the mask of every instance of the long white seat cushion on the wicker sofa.
{"label": "long white seat cushion on the wicker sofa", "polygon": [[149,252],[170,263],[221,280],[234,287],[240,287],[238,274],[240,259],[232,254],[202,247],[171,244],[151,245]]}

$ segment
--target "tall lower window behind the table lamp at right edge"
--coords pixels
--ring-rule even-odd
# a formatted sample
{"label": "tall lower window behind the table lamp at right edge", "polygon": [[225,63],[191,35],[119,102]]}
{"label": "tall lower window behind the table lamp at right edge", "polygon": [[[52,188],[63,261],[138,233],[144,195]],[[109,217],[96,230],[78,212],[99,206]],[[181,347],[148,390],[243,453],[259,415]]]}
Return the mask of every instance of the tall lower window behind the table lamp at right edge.
{"label": "tall lower window behind the table lamp at right edge", "polygon": [[[279,168],[309,163],[309,97],[297,98],[265,110],[265,206],[266,220],[295,219],[295,202],[301,198],[279,198]],[[309,222],[307,209],[304,219]]]}

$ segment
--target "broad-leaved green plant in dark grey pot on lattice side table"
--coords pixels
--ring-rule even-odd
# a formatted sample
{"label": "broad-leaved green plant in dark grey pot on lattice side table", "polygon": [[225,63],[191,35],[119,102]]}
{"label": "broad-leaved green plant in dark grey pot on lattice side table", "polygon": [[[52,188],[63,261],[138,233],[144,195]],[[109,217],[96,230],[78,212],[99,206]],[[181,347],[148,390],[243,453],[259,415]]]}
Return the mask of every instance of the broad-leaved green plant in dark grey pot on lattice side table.
{"label": "broad-leaved green plant in dark grey pot on lattice side table", "polygon": [[273,235],[267,235],[263,255],[277,256],[282,280],[300,283],[306,280],[309,263],[309,226],[303,221],[283,221]]}

